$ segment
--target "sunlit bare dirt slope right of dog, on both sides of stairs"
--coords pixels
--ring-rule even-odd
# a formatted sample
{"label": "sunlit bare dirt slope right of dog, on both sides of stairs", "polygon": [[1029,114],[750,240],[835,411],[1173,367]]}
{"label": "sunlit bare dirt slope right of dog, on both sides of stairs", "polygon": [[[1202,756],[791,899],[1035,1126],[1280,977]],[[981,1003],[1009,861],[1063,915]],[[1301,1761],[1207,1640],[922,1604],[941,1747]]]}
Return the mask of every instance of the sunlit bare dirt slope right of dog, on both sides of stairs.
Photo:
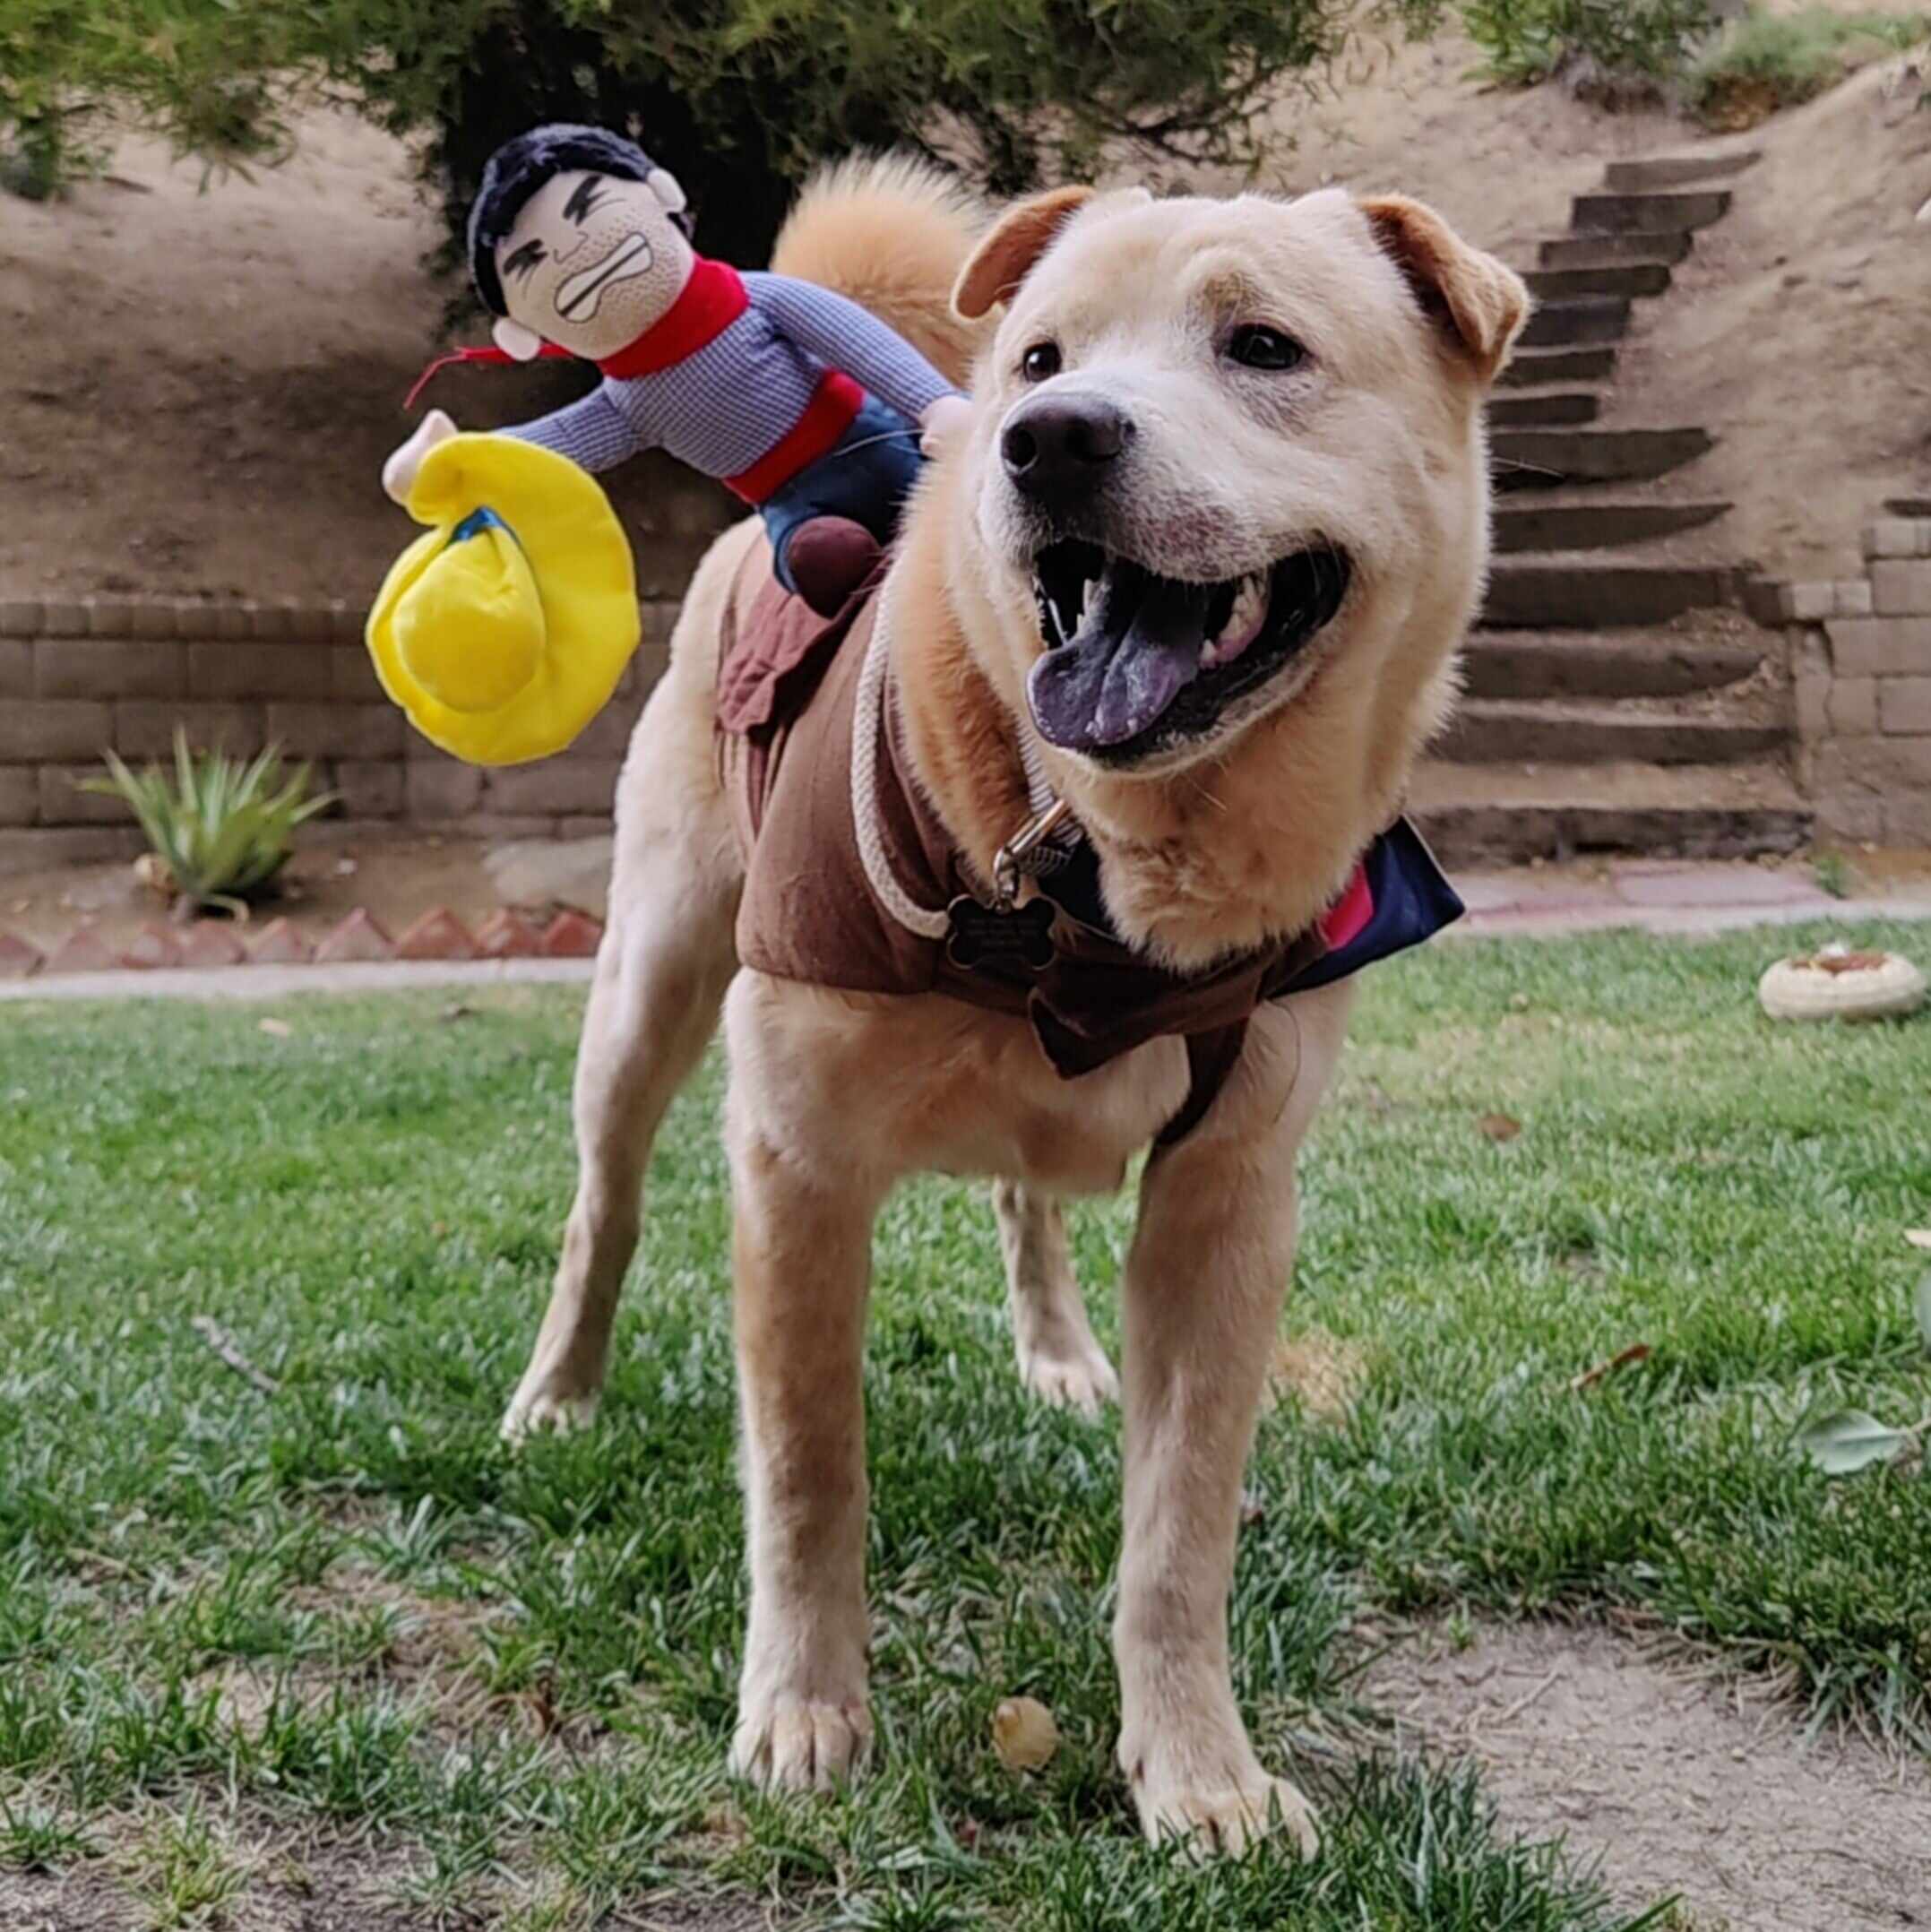
{"label": "sunlit bare dirt slope right of dog, on both sides of stairs", "polygon": [[1605,160],[1759,149],[1668,298],[1637,303],[1605,425],[1703,423],[1717,448],[1672,487],[1736,504],[1711,539],[1775,576],[1848,574],[1885,497],[1931,495],[1931,218],[1914,218],[1931,106],[1906,64],[1873,58],[1724,137],[1661,106],[1605,114],[1556,83],[1498,93],[1473,66],[1454,35],[1363,54],[1330,95],[1284,110],[1296,145],[1271,185],[1419,193],[1531,265]]}

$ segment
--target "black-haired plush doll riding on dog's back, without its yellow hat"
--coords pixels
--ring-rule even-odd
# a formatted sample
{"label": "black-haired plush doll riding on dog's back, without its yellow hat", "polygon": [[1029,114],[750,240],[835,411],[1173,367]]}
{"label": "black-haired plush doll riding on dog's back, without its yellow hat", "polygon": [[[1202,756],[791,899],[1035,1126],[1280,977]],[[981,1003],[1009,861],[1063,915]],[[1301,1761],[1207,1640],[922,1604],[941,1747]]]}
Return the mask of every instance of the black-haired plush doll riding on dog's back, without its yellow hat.
{"label": "black-haired plush doll riding on dog's back, without its yellow hat", "polygon": [[[575,355],[604,377],[504,435],[591,471],[662,448],[718,477],[765,518],[780,583],[826,614],[890,541],[921,437],[966,410],[857,303],[699,255],[676,180],[601,128],[535,128],[490,156],[469,272],[496,348],[444,361]],[[433,410],[382,469],[390,497],[452,435]]]}

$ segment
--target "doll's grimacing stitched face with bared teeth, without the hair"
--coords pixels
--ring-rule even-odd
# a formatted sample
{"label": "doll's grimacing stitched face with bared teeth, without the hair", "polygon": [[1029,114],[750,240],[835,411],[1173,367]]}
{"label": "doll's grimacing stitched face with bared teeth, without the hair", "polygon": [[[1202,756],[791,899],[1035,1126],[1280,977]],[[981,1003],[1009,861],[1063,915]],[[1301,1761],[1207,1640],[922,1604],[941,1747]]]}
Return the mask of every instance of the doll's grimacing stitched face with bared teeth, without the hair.
{"label": "doll's grimacing stitched face with bared teeth, without the hair", "polygon": [[657,323],[693,259],[647,182],[581,170],[545,182],[496,243],[510,321],[587,361]]}

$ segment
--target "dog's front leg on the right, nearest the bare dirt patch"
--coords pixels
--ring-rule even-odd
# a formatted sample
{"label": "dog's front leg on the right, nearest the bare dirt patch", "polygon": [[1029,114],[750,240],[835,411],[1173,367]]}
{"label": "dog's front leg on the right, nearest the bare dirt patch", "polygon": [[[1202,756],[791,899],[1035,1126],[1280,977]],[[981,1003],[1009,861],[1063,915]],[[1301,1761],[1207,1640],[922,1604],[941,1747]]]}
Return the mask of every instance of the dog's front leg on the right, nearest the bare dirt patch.
{"label": "dog's front leg on the right, nearest the bare dirt patch", "polygon": [[1114,1650],[1120,1768],[1149,1837],[1240,1851],[1307,1801],[1263,1770],[1234,1704],[1226,1600],[1240,1484],[1294,1265],[1294,1155],[1346,995],[1257,1018],[1215,1111],[1147,1165],[1122,1281],[1126,1507]]}

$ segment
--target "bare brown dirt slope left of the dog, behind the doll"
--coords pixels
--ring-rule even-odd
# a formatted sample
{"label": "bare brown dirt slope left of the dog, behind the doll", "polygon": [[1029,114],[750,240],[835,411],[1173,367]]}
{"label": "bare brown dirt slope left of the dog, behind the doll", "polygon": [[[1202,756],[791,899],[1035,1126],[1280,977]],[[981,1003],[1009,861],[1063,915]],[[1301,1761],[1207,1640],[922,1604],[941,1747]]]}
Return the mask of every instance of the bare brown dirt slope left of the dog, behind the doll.
{"label": "bare brown dirt slope left of the dog, behind the doll", "polygon": [[[377,475],[440,342],[436,222],[386,135],[299,133],[251,182],[127,139],[68,199],[0,193],[0,593],[367,597],[413,535]],[[570,383],[452,369],[434,400],[483,429]],[[718,514],[670,466],[618,497],[639,564]]]}

